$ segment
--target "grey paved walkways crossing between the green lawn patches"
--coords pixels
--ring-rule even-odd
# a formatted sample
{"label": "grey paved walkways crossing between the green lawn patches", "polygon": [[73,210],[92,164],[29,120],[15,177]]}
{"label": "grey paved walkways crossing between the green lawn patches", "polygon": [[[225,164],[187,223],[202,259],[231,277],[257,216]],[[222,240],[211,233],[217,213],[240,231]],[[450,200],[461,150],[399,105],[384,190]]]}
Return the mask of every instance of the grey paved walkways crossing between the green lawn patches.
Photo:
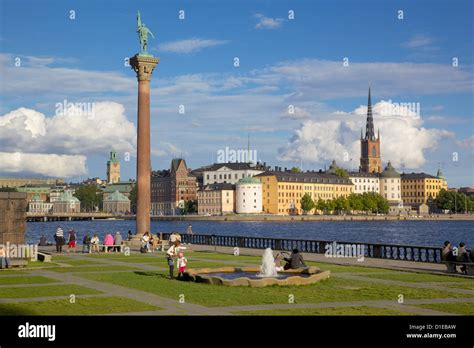
{"label": "grey paved walkways crossing between the green lawn patches", "polygon": [[[199,246],[192,246],[193,250],[207,250],[207,251],[214,251],[212,249],[200,248]],[[230,253],[230,251],[229,251]],[[243,255],[258,255],[261,256],[261,250],[242,250],[241,254]],[[140,254],[136,254],[139,256]],[[312,255],[312,254],[308,254]],[[135,254],[132,254],[130,257],[134,257]],[[159,255],[161,257],[162,255]],[[306,255],[305,255],[306,256]],[[324,261],[330,262],[329,259],[324,258],[324,255],[313,255],[316,257],[308,257],[306,256],[306,260],[312,261]],[[324,259],[320,259],[319,257],[322,256]],[[110,272],[136,272],[137,270],[149,271],[149,272],[162,272],[166,271],[167,268],[161,267],[158,265],[154,265],[153,259],[150,258],[151,263],[130,263],[126,261],[121,261],[120,259],[111,258],[111,257],[103,257],[103,258],[91,258],[84,254],[69,254],[68,258],[71,260],[88,260],[93,263],[91,264],[84,264],[84,265],[77,265],[77,267],[87,268],[91,267],[90,272],[86,273],[104,273],[104,270],[96,270],[96,268],[100,265],[105,267],[107,266],[126,266],[132,267],[132,269],[127,270],[107,270],[107,273]],[[207,259],[204,253],[193,253],[189,254],[189,259],[196,260],[197,262],[209,262],[209,263],[219,263],[219,264],[236,264],[235,261],[232,260],[215,260],[215,259]],[[349,265],[357,265],[360,266],[360,263],[354,260],[340,260],[343,261],[344,264]],[[366,264],[367,266],[380,267],[380,268],[389,268],[389,269],[397,269],[400,270],[400,267],[393,267],[391,263],[385,263],[388,260],[370,260],[370,261],[377,261],[373,262],[372,264]],[[53,262],[63,264],[66,266],[67,260],[54,260],[53,254]],[[398,261],[401,262],[401,261]],[[245,262],[240,262],[241,265],[251,265],[251,261],[245,260]],[[418,263],[417,263],[418,264]],[[422,264],[422,270],[431,273],[432,271],[436,272],[436,267],[426,267],[427,265]],[[440,265],[431,265],[428,266],[440,266]],[[409,270],[414,271],[418,268],[414,268],[413,266],[408,267]],[[404,269],[405,270],[405,269]],[[462,288],[451,288],[447,286],[443,286],[443,283],[433,283],[433,282],[405,282],[399,280],[386,280],[380,278],[371,278],[367,275],[369,274],[377,274],[383,272],[374,272],[373,270],[368,270],[370,272],[345,272],[345,273],[332,273],[331,277],[334,278],[342,278],[342,279],[349,279],[355,281],[369,281],[374,283],[384,283],[384,284],[391,284],[391,285],[399,285],[405,287],[413,287],[413,288],[422,288],[422,289],[435,289],[435,290],[442,290],[445,292],[451,292],[453,294],[466,294],[466,295],[473,295],[474,290],[462,289]],[[83,272],[81,272],[83,273]],[[386,273],[386,272],[385,272]],[[86,279],[80,276],[80,273],[69,272],[69,273],[62,273],[62,272],[54,272],[52,270],[48,270],[48,268],[41,268],[41,269],[29,269],[21,272],[21,274],[5,274],[1,275],[2,277],[15,277],[15,276],[25,276],[25,275],[32,275],[32,276],[44,276],[50,279],[56,280],[54,283],[42,283],[42,284],[5,284],[0,285],[1,288],[6,287],[37,287],[37,286],[47,286],[47,285],[57,285],[57,284],[74,284],[80,285],[87,288],[95,289],[98,291],[103,292],[103,294],[99,295],[77,295],[77,298],[87,298],[87,297],[106,297],[106,296],[119,296],[128,299],[132,299],[135,301],[143,302],[146,304],[150,304],[156,307],[159,307],[160,310],[155,311],[141,311],[141,312],[128,312],[128,313],[116,313],[116,314],[109,314],[109,315],[233,315],[236,312],[243,313],[245,311],[261,311],[261,310],[287,310],[287,309],[303,309],[303,308],[343,308],[343,307],[361,307],[361,306],[369,306],[369,307],[379,307],[379,308],[386,308],[395,310],[398,312],[403,312],[407,314],[415,314],[415,315],[453,315],[446,312],[436,311],[428,308],[421,308],[416,307],[416,305],[423,305],[423,304],[436,304],[436,303],[453,303],[453,305],[460,304],[460,303],[472,303],[474,304],[474,298],[440,298],[440,299],[406,299],[403,304],[399,304],[395,299],[394,300],[366,300],[366,301],[344,301],[344,302],[323,302],[323,303],[294,303],[294,304],[262,304],[262,305],[243,305],[243,306],[223,306],[223,307],[206,307],[198,304],[192,303],[180,303],[178,301],[177,294],[176,298],[169,298],[164,296],[159,296],[157,294],[149,293],[142,290],[137,290],[121,285],[100,282],[95,280]],[[1,278],[0,278],[1,279]],[[54,297],[33,297],[33,298],[14,298],[14,299],[0,299],[1,303],[16,303],[16,302],[30,302],[30,301],[48,301],[53,299],[64,299],[65,296],[54,296]]]}

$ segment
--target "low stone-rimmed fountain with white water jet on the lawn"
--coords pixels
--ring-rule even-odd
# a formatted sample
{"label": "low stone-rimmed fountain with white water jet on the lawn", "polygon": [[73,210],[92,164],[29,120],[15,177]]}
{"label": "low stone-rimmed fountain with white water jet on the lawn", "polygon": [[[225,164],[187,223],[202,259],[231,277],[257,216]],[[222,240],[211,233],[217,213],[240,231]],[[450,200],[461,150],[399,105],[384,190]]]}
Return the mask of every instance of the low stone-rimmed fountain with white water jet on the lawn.
{"label": "low stone-rimmed fountain with white water jet on the lawn", "polygon": [[311,266],[277,272],[272,249],[265,249],[260,267],[220,267],[189,269],[184,280],[197,283],[227,286],[262,287],[267,285],[307,285],[330,276],[330,271],[321,271]]}

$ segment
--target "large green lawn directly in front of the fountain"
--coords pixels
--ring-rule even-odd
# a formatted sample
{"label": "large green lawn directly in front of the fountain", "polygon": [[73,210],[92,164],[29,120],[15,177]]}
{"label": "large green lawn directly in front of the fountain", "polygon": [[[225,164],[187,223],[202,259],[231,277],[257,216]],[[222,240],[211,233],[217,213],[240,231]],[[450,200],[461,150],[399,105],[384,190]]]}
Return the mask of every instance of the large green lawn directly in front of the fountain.
{"label": "large green lawn directly in front of the fountain", "polygon": [[382,299],[396,301],[399,294],[403,294],[405,299],[474,297],[474,295],[449,293],[447,291],[417,289],[341,278],[330,278],[306,286],[267,286],[264,288],[251,288],[213,286],[170,280],[166,272],[96,273],[80,274],[80,276],[87,279],[127,286],[169,298],[177,299],[179,294],[184,294],[187,302],[211,307],[288,303],[290,294],[294,295],[296,303]]}

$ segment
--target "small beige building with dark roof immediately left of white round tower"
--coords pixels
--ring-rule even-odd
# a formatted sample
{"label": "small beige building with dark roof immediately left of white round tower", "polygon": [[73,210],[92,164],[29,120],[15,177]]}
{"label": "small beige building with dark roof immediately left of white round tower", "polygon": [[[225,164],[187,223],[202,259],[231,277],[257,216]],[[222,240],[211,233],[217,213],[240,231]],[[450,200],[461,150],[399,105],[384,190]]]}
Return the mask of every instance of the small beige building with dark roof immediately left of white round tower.
{"label": "small beige building with dark roof immediately left of white round tower", "polygon": [[225,215],[234,212],[235,186],[209,184],[198,191],[199,215]]}

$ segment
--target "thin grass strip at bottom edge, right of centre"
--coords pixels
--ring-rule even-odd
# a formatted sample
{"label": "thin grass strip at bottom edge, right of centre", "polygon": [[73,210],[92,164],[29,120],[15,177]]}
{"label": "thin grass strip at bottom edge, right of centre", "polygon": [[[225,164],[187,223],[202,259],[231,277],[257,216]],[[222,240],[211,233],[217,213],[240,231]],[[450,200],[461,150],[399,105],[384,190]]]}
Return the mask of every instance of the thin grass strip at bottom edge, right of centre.
{"label": "thin grass strip at bottom edge, right of centre", "polygon": [[272,309],[263,311],[237,311],[238,315],[412,315],[393,309],[354,306],[354,307],[325,307],[325,308],[294,308],[294,309]]}

